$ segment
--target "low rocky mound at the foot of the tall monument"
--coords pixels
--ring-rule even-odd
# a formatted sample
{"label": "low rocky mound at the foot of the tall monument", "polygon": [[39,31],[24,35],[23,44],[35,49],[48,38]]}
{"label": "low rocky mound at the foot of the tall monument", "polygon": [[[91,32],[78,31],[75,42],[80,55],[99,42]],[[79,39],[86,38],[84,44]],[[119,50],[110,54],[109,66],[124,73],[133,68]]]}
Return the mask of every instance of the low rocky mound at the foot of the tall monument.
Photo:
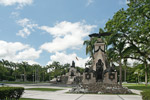
{"label": "low rocky mound at the foot of the tall monument", "polygon": [[76,88],[72,88],[70,93],[132,94],[131,90],[127,87],[101,82],[79,85]]}

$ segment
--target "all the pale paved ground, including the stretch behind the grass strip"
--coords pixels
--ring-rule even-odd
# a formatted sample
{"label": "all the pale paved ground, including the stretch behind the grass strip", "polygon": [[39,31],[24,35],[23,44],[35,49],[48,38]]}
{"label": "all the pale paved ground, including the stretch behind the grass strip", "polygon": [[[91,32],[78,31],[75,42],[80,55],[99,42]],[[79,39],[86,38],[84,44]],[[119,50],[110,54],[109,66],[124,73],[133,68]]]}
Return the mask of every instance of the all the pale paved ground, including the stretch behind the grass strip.
{"label": "all the pale paved ground, including the stretch behind the grass strip", "polygon": [[[25,90],[22,98],[34,98],[44,100],[142,100],[141,95],[103,95],[103,94],[69,94],[71,88],[44,86],[44,85],[24,85],[24,84],[10,84],[9,86],[24,87],[24,88],[60,88],[64,90],[50,92],[50,91],[33,91]],[[132,90],[137,94],[140,91]]]}

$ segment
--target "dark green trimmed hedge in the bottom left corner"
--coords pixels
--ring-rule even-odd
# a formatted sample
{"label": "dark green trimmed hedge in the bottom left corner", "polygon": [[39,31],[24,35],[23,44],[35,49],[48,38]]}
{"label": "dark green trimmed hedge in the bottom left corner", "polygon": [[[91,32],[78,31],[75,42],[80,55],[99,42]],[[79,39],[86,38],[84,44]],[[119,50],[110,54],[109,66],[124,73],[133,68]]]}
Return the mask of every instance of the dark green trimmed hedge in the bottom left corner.
{"label": "dark green trimmed hedge in the bottom left corner", "polygon": [[22,87],[0,87],[0,100],[19,100],[23,92]]}

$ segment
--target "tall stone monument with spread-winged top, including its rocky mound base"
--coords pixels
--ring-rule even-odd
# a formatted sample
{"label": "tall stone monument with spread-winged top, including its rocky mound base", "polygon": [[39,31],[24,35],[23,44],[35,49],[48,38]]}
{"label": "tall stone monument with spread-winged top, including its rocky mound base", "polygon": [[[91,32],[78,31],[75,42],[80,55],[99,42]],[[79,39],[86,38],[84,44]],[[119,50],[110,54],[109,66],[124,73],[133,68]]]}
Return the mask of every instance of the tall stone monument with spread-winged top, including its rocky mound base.
{"label": "tall stone monument with spread-winged top, including its rocky mound base", "polygon": [[92,65],[85,68],[82,84],[72,88],[71,93],[110,93],[128,94],[132,93],[128,88],[122,87],[117,83],[117,72],[113,65],[107,60],[105,53],[105,43],[102,36],[109,36],[111,33],[93,33],[89,37],[97,38],[94,44],[94,56]]}

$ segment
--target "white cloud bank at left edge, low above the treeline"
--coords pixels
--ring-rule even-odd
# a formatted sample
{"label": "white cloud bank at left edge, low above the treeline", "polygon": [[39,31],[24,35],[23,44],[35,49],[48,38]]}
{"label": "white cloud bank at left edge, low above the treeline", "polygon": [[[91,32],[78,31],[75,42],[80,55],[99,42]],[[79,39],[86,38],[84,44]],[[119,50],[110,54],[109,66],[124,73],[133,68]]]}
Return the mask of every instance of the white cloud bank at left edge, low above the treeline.
{"label": "white cloud bank at left edge, low above the treeline", "polygon": [[40,57],[41,52],[41,50],[36,51],[29,45],[20,42],[6,42],[0,40],[0,59],[14,62],[35,62],[34,60]]}

